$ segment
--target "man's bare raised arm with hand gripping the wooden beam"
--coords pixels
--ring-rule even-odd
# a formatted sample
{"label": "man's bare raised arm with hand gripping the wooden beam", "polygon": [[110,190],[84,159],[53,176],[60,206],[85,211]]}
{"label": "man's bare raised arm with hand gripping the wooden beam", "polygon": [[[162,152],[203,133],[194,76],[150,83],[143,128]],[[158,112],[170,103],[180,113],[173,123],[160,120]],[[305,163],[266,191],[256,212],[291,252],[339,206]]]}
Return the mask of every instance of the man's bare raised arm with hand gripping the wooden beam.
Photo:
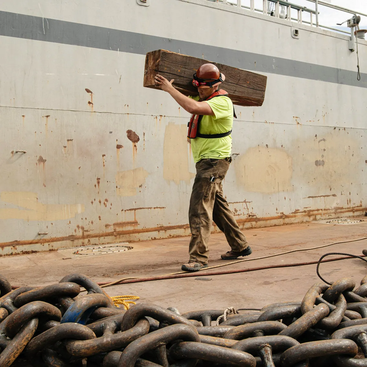
{"label": "man's bare raised arm with hand gripping the wooden beam", "polygon": [[206,102],[197,102],[194,99],[186,97],[181,92],[172,86],[174,79],[168,81],[165,77],[161,75],[156,75],[156,84],[161,88],[161,90],[168,92],[174,100],[187,112],[193,115],[208,115],[214,116],[214,112]]}

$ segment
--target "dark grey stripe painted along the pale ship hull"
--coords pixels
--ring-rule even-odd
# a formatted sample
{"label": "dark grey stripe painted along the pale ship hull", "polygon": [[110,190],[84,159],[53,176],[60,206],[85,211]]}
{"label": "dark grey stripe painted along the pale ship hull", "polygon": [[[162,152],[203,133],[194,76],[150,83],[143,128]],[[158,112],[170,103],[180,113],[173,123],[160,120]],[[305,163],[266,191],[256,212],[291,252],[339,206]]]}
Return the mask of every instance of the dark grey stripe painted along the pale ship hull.
{"label": "dark grey stripe painted along the pale ship hull", "polygon": [[[145,55],[164,49],[256,72],[327,81],[367,88],[366,76],[357,72],[252,52],[204,45],[81,23],[0,11],[0,36],[47,41]],[[346,47],[346,46],[345,46]]]}

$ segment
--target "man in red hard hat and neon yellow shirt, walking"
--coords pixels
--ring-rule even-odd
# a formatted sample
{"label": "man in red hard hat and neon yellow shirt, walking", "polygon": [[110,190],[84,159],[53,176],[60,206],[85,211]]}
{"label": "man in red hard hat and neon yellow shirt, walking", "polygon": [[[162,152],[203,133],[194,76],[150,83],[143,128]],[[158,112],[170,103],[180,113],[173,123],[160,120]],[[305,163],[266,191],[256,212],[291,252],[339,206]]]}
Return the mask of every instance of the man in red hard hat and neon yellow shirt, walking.
{"label": "man in red hard hat and neon yellow shirt, walking", "polygon": [[246,237],[237,225],[223,195],[222,181],[232,161],[232,124],[234,109],[228,93],[219,89],[225,76],[217,66],[204,64],[194,74],[193,85],[199,97],[186,97],[172,83],[156,75],[156,84],[168,92],[187,112],[191,113],[188,139],[196,163],[196,177],[192,188],[189,224],[191,240],[190,260],[182,270],[197,271],[208,267],[208,242],[212,221],[224,232],[231,251],[221,255],[224,260],[251,254]]}

